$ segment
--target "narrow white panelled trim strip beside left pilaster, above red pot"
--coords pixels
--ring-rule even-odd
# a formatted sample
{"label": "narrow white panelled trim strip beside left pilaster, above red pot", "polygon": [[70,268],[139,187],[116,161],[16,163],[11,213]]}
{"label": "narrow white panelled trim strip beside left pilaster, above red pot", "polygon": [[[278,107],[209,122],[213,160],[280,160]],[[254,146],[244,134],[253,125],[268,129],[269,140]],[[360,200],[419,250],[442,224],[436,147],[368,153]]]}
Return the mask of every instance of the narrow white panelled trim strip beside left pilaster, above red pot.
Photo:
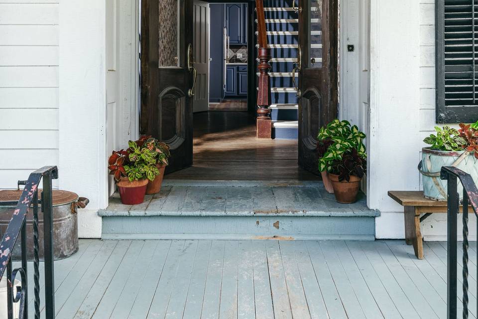
{"label": "narrow white panelled trim strip beside left pilaster, above red pot", "polygon": [[[119,138],[119,72],[118,68],[118,0],[106,0],[106,147],[108,156],[118,150]],[[108,193],[115,192],[115,181],[110,175]]]}

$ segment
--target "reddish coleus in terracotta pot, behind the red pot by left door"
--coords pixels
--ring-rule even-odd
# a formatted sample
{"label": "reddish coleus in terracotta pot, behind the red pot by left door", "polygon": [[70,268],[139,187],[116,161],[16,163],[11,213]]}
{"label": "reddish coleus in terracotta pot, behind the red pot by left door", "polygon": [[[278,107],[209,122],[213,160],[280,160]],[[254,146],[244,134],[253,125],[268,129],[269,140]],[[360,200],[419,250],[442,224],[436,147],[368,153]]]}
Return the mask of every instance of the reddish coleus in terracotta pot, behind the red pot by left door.
{"label": "reddish coleus in terracotta pot, behind the red pot by left door", "polygon": [[168,165],[169,145],[164,142],[160,142],[151,136],[143,136],[136,144],[144,150],[151,152],[154,155],[154,165],[158,168],[159,173],[153,180],[148,181],[146,187],[146,194],[156,194],[161,190],[161,184],[163,182],[164,170]]}

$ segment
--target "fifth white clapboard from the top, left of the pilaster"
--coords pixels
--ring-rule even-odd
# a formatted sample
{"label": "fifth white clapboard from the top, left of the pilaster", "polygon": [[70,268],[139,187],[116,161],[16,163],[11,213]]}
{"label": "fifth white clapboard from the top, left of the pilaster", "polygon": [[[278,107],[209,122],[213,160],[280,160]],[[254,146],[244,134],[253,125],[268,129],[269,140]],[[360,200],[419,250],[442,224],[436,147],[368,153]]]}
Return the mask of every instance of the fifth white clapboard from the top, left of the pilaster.
{"label": "fifth white clapboard from the top, left of the pilaster", "polygon": [[0,88],[0,109],[57,109],[58,88]]}

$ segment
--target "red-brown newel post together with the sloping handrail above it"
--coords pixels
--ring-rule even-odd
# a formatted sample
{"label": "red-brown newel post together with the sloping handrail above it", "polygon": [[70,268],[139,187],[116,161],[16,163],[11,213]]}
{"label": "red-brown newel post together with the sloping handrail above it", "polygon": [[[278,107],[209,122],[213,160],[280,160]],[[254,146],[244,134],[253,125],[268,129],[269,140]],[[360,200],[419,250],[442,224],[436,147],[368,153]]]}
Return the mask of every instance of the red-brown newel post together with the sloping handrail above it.
{"label": "red-brown newel post together with the sloping handrail above it", "polygon": [[256,0],[257,12],[257,42],[259,43],[258,58],[259,82],[257,91],[257,138],[270,139],[272,122],[270,119],[270,76],[271,66],[270,48],[267,44],[267,31],[265,28],[264,5],[262,0]]}

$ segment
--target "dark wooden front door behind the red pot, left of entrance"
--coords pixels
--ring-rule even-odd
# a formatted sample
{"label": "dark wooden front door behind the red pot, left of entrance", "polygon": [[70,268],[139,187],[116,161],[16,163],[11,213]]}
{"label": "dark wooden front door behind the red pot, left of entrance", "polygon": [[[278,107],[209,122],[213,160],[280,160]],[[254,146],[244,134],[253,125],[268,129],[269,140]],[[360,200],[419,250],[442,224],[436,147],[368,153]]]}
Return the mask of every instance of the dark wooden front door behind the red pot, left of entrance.
{"label": "dark wooden front door behind the red pot, left of entrance", "polygon": [[193,0],[141,0],[140,133],[171,146],[166,172],[193,163]]}

